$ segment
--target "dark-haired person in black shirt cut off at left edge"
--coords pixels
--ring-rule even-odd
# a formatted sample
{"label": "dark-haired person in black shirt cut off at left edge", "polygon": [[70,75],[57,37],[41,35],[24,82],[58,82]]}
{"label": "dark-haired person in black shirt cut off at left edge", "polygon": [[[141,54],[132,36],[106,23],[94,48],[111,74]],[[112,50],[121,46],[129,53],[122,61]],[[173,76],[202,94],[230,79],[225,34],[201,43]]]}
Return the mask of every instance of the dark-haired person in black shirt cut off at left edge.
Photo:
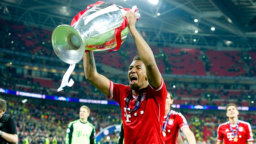
{"label": "dark-haired person in black shirt cut off at left edge", "polygon": [[18,143],[14,120],[6,112],[6,101],[0,98],[0,144]]}

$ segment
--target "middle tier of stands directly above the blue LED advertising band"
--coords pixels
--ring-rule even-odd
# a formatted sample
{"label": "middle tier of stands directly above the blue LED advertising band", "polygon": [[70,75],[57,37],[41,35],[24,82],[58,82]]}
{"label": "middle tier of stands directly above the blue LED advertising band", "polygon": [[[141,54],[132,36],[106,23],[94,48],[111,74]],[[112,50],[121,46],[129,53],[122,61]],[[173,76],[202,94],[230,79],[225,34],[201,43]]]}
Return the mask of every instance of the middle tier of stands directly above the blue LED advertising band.
{"label": "middle tier of stands directly above the blue LED advertising band", "polygon": [[[57,92],[61,77],[54,76],[52,73],[48,76],[48,78],[32,77],[22,72],[17,73],[16,68],[13,67],[0,68],[0,88],[71,98],[113,101],[87,80],[77,80],[72,87],[65,87],[63,91]],[[126,79],[112,79],[112,81],[128,84]],[[197,87],[190,87],[189,83],[179,83],[173,88],[172,82],[166,81],[165,83],[167,89],[174,95],[177,104],[216,106],[238,102],[238,106],[255,106],[252,101],[255,100],[256,90],[250,85],[231,87],[223,84],[216,85],[216,88],[209,88],[207,83],[196,84]]]}

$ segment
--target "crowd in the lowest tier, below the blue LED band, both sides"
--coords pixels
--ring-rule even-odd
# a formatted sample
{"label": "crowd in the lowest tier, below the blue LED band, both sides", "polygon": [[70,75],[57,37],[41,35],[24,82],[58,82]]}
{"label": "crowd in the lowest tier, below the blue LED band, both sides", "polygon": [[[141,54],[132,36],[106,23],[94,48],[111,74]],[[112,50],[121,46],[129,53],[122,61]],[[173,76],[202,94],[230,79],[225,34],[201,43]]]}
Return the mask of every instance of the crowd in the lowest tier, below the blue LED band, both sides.
{"label": "crowd in the lowest tier, below the blue LED band, both sides", "polygon": [[[8,102],[7,114],[11,115],[17,127],[19,143],[26,138],[30,144],[44,144],[45,138],[52,142],[56,138],[58,144],[64,144],[65,132],[70,121],[79,119],[79,105],[70,103],[56,103],[29,99],[22,103],[20,98],[13,98]],[[83,104],[81,104],[83,105]],[[86,104],[85,104],[86,105]],[[88,121],[95,126],[96,134],[107,126],[121,123],[121,111],[118,106],[91,106],[91,114]],[[195,134],[198,144],[209,142],[216,143],[217,127],[227,121],[225,111],[198,111],[188,113],[186,109],[175,109],[186,117],[191,131]],[[195,110],[194,110],[195,111]],[[240,120],[251,124],[254,138],[256,133],[255,113],[240,112]],[[108,135],[101,140],[101,144],[114,144],[119,133]],[[182,135],[183,136],[183,135]],[[183,137],[186,144],[185,137]],[[208,144],[209,144],[208,143]]]}

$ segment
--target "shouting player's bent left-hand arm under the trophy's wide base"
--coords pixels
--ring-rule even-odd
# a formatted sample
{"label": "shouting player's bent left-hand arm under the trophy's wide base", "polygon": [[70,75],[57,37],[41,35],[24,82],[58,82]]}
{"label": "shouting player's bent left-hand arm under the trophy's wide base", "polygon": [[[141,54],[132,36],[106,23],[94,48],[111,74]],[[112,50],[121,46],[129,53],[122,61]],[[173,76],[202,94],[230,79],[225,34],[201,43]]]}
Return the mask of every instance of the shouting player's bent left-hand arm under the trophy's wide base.
{"label": "shouting player's bent left-hand arm under the trophy's wide base", "polygon": [[97,72],[93,52],[90,51],[85,53],[83,59],[85,78],[101,92],[109,96],[110,81],[108,78]]}

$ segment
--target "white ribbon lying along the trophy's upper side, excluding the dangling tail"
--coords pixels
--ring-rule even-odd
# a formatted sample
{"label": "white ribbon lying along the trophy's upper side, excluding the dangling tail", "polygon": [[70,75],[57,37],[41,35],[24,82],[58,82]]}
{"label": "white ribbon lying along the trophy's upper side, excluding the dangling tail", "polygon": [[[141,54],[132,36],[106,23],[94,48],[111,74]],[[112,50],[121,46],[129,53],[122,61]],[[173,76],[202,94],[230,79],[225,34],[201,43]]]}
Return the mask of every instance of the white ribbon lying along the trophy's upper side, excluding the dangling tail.
{"label": "white ribbon lying along the trophy's upper side, excluding the dangling tail", "polygon": [[[134,12],[134,13],[137,16],[137,18],[141,17],[141,13],[140,13],[139,9],[136,12]],[[97,38],[97,37],[99,37],[100,35],[102,35],[102,34],[104,34],[106,32],[109,32],[111,30],[114,30],[114,29],[120,27],[122,25],[123,21],[124,21],[124,18],[122,18],[122,19],[120,19],[120,20],[118,20],[118,21],[116,21],[116,22],[114,22],[114,23],[112,23],[112,24],[102,28],[102,29],[94,29],[90,33],[89,37]]]}

